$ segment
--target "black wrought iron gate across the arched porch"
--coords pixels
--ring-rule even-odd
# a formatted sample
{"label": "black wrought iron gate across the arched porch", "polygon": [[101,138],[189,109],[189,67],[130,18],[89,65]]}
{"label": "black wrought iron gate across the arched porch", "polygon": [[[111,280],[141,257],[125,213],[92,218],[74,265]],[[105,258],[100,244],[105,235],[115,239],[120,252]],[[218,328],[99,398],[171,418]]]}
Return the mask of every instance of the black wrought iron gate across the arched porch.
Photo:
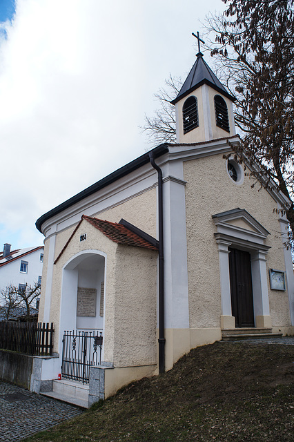
{"label": "black wrought iron gate across the arched porch", "polygon": [[62,377],[89,383],[90,367],[101,364],[102,331],[64,332],[62,342]]}

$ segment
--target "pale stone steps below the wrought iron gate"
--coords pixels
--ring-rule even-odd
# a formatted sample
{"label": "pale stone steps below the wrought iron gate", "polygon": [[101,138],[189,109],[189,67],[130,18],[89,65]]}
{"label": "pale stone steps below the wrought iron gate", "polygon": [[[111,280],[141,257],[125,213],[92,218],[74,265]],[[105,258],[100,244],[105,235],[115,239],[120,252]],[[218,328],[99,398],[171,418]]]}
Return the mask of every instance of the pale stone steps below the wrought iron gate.
{"label": "pale stone steps below the wrought iron gate", "polygon": [[59,401],[88,408],[89,385],[67,379],[53,381],[53,391],[43,392],[44,396],[49,396]]}

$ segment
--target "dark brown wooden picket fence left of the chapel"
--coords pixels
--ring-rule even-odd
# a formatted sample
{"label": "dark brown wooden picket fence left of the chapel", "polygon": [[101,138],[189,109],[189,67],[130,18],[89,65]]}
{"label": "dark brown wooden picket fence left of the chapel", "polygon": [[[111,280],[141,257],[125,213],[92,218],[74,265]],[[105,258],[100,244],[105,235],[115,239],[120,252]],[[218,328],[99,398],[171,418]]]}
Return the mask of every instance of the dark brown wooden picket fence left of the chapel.
{"label": "dark brown wooden picket fence left of the chapel", "polygon": [[0,349],[32,356],[50,356],[53,351],[53,323],[0,322]]}

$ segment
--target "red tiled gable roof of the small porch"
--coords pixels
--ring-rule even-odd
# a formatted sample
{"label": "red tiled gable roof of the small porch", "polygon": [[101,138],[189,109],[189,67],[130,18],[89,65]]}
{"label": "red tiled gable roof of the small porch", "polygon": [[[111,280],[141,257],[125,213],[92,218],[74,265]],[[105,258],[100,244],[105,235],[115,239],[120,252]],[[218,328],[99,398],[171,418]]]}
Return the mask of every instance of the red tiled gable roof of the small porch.
{"label": "red tiled gable roof of the small porch", "polygon": [[154,245],[156,243],[155,238],[150,237],[150,241],[147,240],[146,238],[148,237],[148,235],[144,232],[142,232],[143,235],[140,235],[139,234],[140,230],[136,229],[135,226],[133,226],[132,224],[129,224],[129,226],[134,227],[137,230],[137,233],[134,231],[135,229],[131,230],[129,227],[126,227],[126,225],[121,224],[121,222],[119,223],[110,222],[106,220],[99,220],[99,218],[92,218],[87,215],[82,215],[81,221],[79,222],[79,224],[77,224],[77,227],[72,232],[70,238],[68,239],[68,242],[66,242],[66,245],[59,253],[59,256],[57,256],[54,262],[55,264],[57,263],[63,252],[68,247],[68,244],[72,240],[72,237],[75,235],[77,229],[79,228],[83,220],[89,222],[93,227],[104,233],[104,235],[106,235],[107,238],[109,238],[113,242],[117,242],[117,244],[123,244],[133,247],[141,247],[143,249],[158,251],[158,247]]}

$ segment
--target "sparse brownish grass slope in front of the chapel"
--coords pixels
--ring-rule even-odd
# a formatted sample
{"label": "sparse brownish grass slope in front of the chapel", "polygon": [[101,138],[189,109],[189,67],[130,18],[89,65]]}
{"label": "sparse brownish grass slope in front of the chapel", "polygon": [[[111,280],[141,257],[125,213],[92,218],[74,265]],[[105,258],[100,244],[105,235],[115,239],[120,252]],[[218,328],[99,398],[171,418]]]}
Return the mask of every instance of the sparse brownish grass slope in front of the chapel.
{"label": "sparse brownish grass slope in front of the chapel", "polygon": [[215,343],[26,441],[293,442],[294,346]]}

